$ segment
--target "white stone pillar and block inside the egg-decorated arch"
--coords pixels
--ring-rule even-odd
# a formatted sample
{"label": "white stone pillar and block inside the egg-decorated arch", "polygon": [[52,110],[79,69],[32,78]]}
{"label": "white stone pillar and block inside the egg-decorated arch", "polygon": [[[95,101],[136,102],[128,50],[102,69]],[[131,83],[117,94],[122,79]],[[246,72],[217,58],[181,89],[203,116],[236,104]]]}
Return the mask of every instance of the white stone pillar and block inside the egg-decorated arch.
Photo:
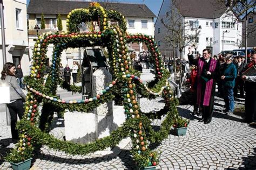
{"label": "white stone pillar and block inside the egg-decorated arch", "polygon": [[[92,77],[93,96],[109,86],[111,80],[111,74],[104,67],[97,69]],[[65,112],[64,119],[66,140],[85,144],[109,136],[125,122],[125,114],[123,106],[113,107],[110,101],[100,104],[93,112]]]}

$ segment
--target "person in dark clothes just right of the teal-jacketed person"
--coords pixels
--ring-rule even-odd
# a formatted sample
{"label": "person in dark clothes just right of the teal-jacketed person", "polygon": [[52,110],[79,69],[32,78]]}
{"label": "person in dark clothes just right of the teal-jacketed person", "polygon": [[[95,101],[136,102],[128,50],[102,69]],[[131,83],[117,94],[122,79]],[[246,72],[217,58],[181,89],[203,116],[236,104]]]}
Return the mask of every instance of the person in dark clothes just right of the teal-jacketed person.
{"label": "person in dark clothes just right of the teal-jacketed person", "polygon": [[245,63],[242,62],[241,55],[238,56],[238,63],[236,63],[235,66],[237,67],[237,79],[235,80],[234,97],[238,96],[237,93],[238,93],[238,88],[239,88],[240,97],[244,98],[245,82],[244,82],[244,80],[241,79],[241,76],[242,76],[242,70],[245,67]]}

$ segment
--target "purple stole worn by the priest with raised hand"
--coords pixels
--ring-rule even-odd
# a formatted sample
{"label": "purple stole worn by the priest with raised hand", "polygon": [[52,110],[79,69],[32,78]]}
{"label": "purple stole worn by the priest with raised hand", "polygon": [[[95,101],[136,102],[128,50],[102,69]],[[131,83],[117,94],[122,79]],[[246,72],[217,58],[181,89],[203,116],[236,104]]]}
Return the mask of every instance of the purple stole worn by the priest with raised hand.
{"label": "purple stole worn by the priest with raised hand", "polygon": [[[197,104],[201,104],[201,90],[202,90],[202,81],[201,80],[201,74],[203,71],[204,67],[204,62],[200,58],[198,59],[198,73],[197,73]],[[212,73],[214,72],[216,68],[217,62],[213,59],[210,59],[210,68],[209,71]],[[204,102],[203,105],[208,106],[210,104],[210,98],[211,98],[211,93],[212,93],[212,84],[213,84],[213,79],[209,80],[206,82],[206,87],[205,87],[205,95],[204,95]]]}

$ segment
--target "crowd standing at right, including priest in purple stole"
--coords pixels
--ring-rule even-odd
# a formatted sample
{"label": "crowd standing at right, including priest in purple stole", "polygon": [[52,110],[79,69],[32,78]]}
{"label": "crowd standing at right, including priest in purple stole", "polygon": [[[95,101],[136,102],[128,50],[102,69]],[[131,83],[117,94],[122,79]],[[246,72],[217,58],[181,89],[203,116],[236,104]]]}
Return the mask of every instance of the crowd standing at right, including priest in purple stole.
{"label": "crowd standing at right, including priest in purple stole", "polygon": [[234,58],[232,54],[211,56],[210,49],[204,49],[203,56],[197,55],[194,59],[189,48],[190,90],[196,101],[193,103],[193,115],[202,116],[199,122],[211,122],[217,83],[217,94],[225,102],[223,112],[226,115],[233,114],[234,97],[245,97],[245,122],[256,125],[256,53],[251,53],[251,62],[246,64],[244,60],[244,57]]}

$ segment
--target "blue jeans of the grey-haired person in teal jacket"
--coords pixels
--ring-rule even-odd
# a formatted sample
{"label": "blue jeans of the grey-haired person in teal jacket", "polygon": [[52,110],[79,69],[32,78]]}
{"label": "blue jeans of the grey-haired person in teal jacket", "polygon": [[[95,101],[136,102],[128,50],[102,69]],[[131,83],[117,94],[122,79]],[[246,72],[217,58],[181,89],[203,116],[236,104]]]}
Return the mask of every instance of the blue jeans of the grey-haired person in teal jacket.
{"label": "blue jeans of the grey-haired person in teal jacket", "polygon": [[234,87],[224,87],[224,102],[225,108],[228,111],[234,112]]}

